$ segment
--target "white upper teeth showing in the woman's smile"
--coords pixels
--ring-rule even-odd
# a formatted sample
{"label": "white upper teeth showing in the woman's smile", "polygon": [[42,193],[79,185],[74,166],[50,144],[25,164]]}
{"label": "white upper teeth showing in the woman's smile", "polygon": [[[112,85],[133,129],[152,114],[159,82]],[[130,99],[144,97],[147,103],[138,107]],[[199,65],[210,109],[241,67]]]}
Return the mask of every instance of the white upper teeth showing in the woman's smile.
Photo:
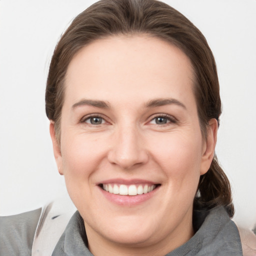
{"label": "white upper teeth showing in the woman's smile", "polygon": [[124,185],[124,184],[103,184],[103,189],[109,193],[121,194],[121,195],[137,195],[145,194],[152,191],[155,188],[155,185]]}

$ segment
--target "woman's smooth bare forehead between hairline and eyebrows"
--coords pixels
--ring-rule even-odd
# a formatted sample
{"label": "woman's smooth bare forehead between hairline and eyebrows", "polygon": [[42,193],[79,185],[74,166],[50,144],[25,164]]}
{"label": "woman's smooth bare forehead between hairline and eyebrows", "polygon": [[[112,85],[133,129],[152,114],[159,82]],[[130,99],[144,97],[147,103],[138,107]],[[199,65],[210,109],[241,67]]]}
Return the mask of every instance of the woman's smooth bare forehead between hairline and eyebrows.
{"label": "woman's smooth bare forehead between hairline and eyebrows", "polygon": [[[183,97],[192,93],[189,58],[169,42],[149,35],[119,35],[93,41],[70,61],[65,100],[83,95],[107,100]],[[168,94],[168,95],[166,95]],[[191,95],[190,95],[191,96]]]}

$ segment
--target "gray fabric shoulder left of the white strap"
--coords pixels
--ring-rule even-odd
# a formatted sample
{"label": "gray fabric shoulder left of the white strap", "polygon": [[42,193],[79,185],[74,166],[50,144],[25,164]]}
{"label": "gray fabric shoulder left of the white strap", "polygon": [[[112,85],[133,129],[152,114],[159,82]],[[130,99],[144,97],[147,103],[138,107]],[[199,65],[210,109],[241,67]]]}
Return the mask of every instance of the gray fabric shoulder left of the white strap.
{"label": "gray fabric shoulder left of the white strap", "polygon": [[0,216],[0,255],[31,255],[41,208],[11,216]]}

